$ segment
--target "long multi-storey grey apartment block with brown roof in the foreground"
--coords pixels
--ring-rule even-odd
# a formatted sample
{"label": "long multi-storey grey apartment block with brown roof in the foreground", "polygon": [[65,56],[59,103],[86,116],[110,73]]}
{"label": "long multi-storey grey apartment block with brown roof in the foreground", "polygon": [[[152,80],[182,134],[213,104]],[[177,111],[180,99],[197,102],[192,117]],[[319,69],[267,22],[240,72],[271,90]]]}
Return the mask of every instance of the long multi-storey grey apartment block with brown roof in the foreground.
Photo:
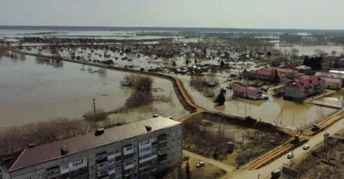
{"label": "long multi-storey grey apartment block with brown roof in the foreground", "polygon": [[0,178],[147,178],[181,160],[182,123],[154,117],[1,156]]}

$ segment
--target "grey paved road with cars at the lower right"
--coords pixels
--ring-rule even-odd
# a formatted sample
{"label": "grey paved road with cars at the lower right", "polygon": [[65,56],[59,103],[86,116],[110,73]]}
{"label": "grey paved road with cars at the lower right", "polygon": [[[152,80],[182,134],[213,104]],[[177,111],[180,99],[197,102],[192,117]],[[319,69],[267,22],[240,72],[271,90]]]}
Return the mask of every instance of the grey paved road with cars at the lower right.
{"label": "grey paved road with cars at the lower right", "polygon": [[[344,119],[341,119],[340,121],[337,121],[332,126],[327,128],[327,132],[330,133],[330,135],[335,134],[336,132],[344,129]],[[309,150],[303,150],[302,147],[297,148],[293,151],[294,153],[294,160],[301,160],[305,157],[305,154],[310,152],[311,150],[314,150],[314,147],[318,145],[319,143],[323,142],[323,134],[325,131],[320,132],[319,134],[316,134],[315,136],[312,136],[310,141],[308,141],[308,144],[310,145]],[[235,179],[246,179],[246,178],[258,178],[258,175],[260,174],[260,179],[263,178],[270,178],[270,173],[274,169],[281,169],[283,163],[290,163],[290,160],[287,159],[287,154],[281,156],[277,160],[273,161],[272,163],[266,165],[265,167],[262,167],[261,169],[257,170],[245,170],[245,169],[239,169],[238,171],[233,172],[232,174],[227,175],[227,178],[235,178]]]}

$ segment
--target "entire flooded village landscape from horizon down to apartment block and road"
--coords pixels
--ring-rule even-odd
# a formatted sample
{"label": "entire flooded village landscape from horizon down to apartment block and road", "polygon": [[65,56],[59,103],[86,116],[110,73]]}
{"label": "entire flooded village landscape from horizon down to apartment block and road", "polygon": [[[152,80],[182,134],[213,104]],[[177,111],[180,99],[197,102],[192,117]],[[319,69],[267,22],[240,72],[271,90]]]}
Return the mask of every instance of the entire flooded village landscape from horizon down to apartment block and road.
{"label": "entire flooded village landscape from horizon down to apartment block and road", "polygon": [[[302,145],[300,132],[323,130],[344,106],[344,35],[336,32],[0,36],[0,141],[28,135],[0,153],[164,116],[184,122],[184,150],[239,168],[290,141]],[[59,130],[52,139],[32,138],[49,123]],[[209,166],[192,170],[228,172]]]}

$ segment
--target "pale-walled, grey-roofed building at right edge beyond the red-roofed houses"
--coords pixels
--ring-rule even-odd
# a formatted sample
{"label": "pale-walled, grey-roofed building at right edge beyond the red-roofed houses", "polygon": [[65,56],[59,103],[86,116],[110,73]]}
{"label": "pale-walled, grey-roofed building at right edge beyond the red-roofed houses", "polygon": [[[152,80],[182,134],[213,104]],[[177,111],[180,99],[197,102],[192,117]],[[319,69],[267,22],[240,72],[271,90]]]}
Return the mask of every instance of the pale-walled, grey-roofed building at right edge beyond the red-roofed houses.
{"label": "pale-walled, grey-roofed building at right edge beyond the red-roofed houses", "polygon": [[344,74],[318,71],[314,75],[319,76],[321,77],[321,79],[325,80],[325,88],[334,90],[343,88]]}

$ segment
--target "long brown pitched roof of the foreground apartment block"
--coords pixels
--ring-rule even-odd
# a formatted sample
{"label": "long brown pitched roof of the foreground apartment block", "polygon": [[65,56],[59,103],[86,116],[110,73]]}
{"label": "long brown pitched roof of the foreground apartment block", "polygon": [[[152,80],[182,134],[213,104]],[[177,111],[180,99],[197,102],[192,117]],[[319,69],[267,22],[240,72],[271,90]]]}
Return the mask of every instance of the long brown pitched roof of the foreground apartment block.
{"label": "long brown pitched roof of the foreground apartment block", "polygon": [[[61,158],[61,150],[67,151],[67,154],[64,155],[67,156],[69,154],[83,152],[94,147],[100,147],[116,141],[130,139],[134,136],[140,136],[156,130],[178,126],[179,124],[181,123],[174,121],[173,119],[154,117],[151,119],[128,123],[123,126],[108,128],[105,129],[103,134],[96,135],[94,132],[92,132],[69,139],[63,139],[60,141],[54,141],[52,143],[29,147],[23,150],[23,152],[21,152],[19,155],[11,154],[13,159],[8,161],[8,163],[3,163],[3,158],[7,158],[9,155],[3,156],[2,160],[0,160],[0,163],[6,167],[8,171],[14,171],[29,165],[42,163],[47,160]],[[149,130],[147,128],[149,128]]]}

